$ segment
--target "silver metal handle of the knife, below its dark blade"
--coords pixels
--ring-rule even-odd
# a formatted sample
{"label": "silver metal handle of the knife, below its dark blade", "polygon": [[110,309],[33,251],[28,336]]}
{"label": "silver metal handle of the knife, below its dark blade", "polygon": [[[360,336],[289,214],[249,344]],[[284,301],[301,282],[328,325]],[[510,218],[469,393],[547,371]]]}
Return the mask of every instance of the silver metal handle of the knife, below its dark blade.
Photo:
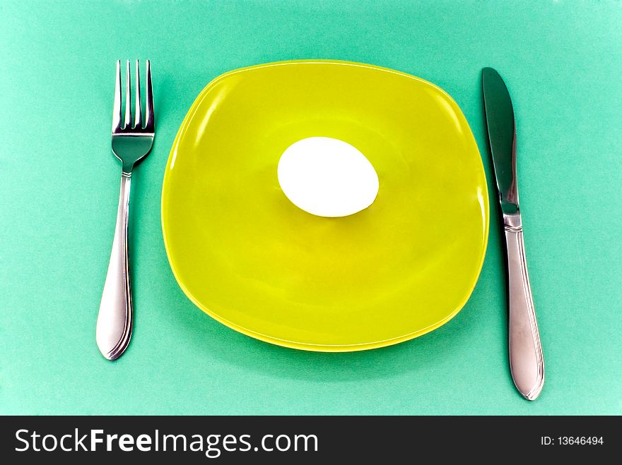
{"label": "silver metal handle of the knife, below its dark blade", "polygon": [[520,214],[504,217],[507,245],[510,371],[519,392],[535,400],[544,385],[544,356],[540,344],[532,289],[527,274]]}

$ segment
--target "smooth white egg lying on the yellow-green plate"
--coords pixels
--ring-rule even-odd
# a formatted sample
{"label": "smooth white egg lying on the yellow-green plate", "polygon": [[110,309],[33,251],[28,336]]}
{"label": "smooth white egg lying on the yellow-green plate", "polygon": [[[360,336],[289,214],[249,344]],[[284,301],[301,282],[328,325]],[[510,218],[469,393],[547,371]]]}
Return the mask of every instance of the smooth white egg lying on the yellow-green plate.
{"label": "smooth white egg lying on the yellow-green plate", "polygon": [[378,175],[356,147],[312,137],[290,145],[278,161],[278,183],[297,207],[320,217],[345,217],[369,207]]}

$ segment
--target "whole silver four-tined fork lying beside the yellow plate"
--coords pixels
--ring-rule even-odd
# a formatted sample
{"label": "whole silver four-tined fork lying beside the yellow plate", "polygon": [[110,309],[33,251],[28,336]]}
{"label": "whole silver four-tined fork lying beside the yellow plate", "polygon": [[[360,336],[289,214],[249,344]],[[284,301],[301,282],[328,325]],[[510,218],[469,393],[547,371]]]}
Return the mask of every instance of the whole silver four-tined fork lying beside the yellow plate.
{"label": "whole silver four-tined fork lying beside the yellow plate", "polygon": [[117,226],[112,241],[110,263],[100,303],[96,339],[98,347],[108,360],[115,360],[127,349],[131,338],[132,305],[129,284],[127,224],[129,215],[129,186],[134,165],[145,157],[153,145],[153,90],[151,66],[147,60],[146,118],[143,126],[141,111],[140,67],[136,60],[136,107],[134,126],[131,125],[131,85],[129,60],[125,86],[125,121],[121,126],[121,60],[117,61],[115,106],[112,110],[112,153],[121,163],[121,193],[117,210]]}

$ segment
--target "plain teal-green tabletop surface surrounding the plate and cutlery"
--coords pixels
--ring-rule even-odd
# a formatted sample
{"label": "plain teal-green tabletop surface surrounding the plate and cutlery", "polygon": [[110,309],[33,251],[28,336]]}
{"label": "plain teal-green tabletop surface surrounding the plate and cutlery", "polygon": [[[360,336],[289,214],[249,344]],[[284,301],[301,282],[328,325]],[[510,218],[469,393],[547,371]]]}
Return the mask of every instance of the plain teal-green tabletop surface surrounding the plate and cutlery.
{"label": "plain teal-green tabletop surface surrounding the plate and cutlery", "polygon": [[[622,2],[0,0],[0,413],[622,413]],[[157,135],[134,171],[136,325],[95,345],[120,165],[115,60],[151,59]],[[515,103],[529,272],[546,360],[534,403],[507,367],[503,254],[471,299],[411,342],[317,354],[256,341],[185,298],[160,229],[177,128],[219,74],[345,59],[454,97],[493,186],[480,72]]]}

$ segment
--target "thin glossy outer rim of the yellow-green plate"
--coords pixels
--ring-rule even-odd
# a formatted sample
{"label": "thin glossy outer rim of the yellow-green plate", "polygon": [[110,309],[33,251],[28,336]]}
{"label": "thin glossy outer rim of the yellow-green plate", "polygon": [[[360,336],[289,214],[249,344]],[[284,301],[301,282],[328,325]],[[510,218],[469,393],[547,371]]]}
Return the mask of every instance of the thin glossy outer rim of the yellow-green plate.
{"label": "thin glossy outer rim of the yellow-green plate", "polygon": [[[429,325],[428,327],[422,328],[421,330],[417,330],[409,334],[404,334],[398,337],[394,337],[390,339],[383,339],[383,340],[375,341],[375,342],[363,342],[360,344],[309,344],[306,342],[290,341],[288,339],[281,339],[278,337],[269,336],[268,334],[262,334],[257,331],[249,330],[246,327],[237,325],[236,323],[230,320],[227,320],[226,318],[223,318],[221,315],[218,315],[217,313],[207,308],[207,306],[199,302],[199,300],[196,299],[192,295],[189,289],[187,289],[187,287],[182,282],[182,279],[180,279],[180,277],[178,276],[177,271],[175,270],[175,266],[173,265],[173,260],[171,260],[171,257],[170,257],[169,244],[166,238],[166,230],[165,230],[165,224],[164,224],[165,223],[164,196],[165,196],[165,190],[166,190],[165,186],[167,185],[167,181],[170,177],[170,171],[172,171],[171,168],[175,164],[175,158],[177,157],[177,147],[178,147],[179,140],[180,140],[182,133],[184,133],[184,131],[186,130],[187,126],[189,125],[189,122],[194,117],[194,114],[196,113],[196,110],[201,105],[201,102],[203,101],[203,99],[206,97],[206,95],[209,93],[212,87],[214,87],[221,80],[228,78],[229,76],[233,76],[234,74],[237,74],[237,73],[243,73],[245,71],[252,71],[255,69],[259,69],[259,68],[269,68],[272,66],[288,66],[288,65],[296,65],[296,64],[335,64],[335,65],[342,65],[342,66],[356,66],[360,68],[371,68],[377,71],[385,71],[388,73],[396,74],[398,76],[404,76],[406,78],[416,80],[425,85],[430,85],[435,90],[438,90],[439,92],[441,92],[442,95],[444,95],[445,98],[447,98],[447,100],[452,104],[452,106],[456,107],[460,111],[460,114],[462,114],[464,121],[467,123],[467,126],[469,127],[469,131],[471,133],[471,138],[473,139],[474,146],[479,155],[479,168],[481,169],[481,173],[483,175],[482,176],[483,188],[484,188],[484,191],[486,192],[486,195],[481,196],[481,198],[483,198],[483,203],[484,203],[482,211],[485,217],[481,260],[479,262],[479,267],[477,269],[477,272],[474,274],[474,282],[469,286],[470,289],[467,293],[465,293],[466,296],[464,297],[464,299],[461,301],[461,303],[459,303],[456,306],[456,308],[454,308],[454,310],[452,311],[452,313],[450,313],[450,315],[447,315],[445,318],[442,318],[438,322],[433,323],[433,325]],[[334,60],[334,59],[294,59],[294,60],[274,61],[270,63],[236,68],[230,71],[226,71],[225,73],[222,73],[221,75],[216,76],[216,78],[213,78],[213,80],[211,80],[201,90],[201,92],[199,92],[199,95],[196,96],[196,98],[194,99],[194,102],[192,102],[192,105],[189,107],[188,111],[186,112],[186,115],[184,116],[184,119],[182,121],[182,124],[180,125],[180,128],[177,130],[177,134],[175,135],[175,139],[173,140],[172,147],[171,147],[171,150],[169,152],[169,156],[166,162],[166,167],[165,167],[163,182],[162,182],[162,192],[160,194],[160,226],[162,227],[162,236],[163,236],[163,241],[164,241],[164,248],[166,251],[166,258],[168,260],[168,264],[170,266],[172,274],[175,277],[175,281],[177,282],[177,285],[180,286],[180,289],[182,289],[182,291],[187,296],[187,298],[189,298],[189,300],[192,301],[192,303],[194,303],[194,306],[202,310],[204,313],[209,315],[214,320],[220,322],[222,325],[225,325],[226,327],[229,327],[232,330],[235,330],[237,332],[250,336],[254,339],[258,339],[262,342],[268,342],[269,344],[287,347],[288,349],[299,349],[299,350],[317,351],[317,352],[353,352],[353,351],[365,351],[365,350],[370,350],[370,349],[380,349],[381,347],[392,346],[394,344],[399,344],[401,342],[406,342],[411,339],[415,339],[416,337],[423,336],[423,334],[432,332],[433,330],[436,330],[438,327],[441,327],[442,325],[445,325],[445,323],[452,320],[460,312],[460,310],[462,310],[462,308],[464,308],[464,306],[467,304],[467,302],[469,301],[469,298],[471,298],[471,295],[473,294],[473,291],[475,290],[477,282],[479,281],[481,270],[483,268],[483,263],[486,259],[486,251],[488,250],[488,238],[490,234],[490,217],[491,217],[491,214],[490,214],[488,180],[486,179],[486,169],[483,166],[483,159],[481,158],[481,152],[479,151],[479,146],[477,145],[477,142],[475,140],[475,136],[471,129],[471,125],[469,124],[469,121],[467,120],[466,116],[464,116],[462,109],[459,107],[457,102],[452,98],[452,96],[449,95],[444,89],[442,89],[442,87],[439,87],[438,85],[435,85],[434,83],[430,83],[430,81],[425,80],[423,78],[419,78],[418,76],[413,76],[411,74],[404,73],[402,71],[397,71],[392,68],[385,68],[383,66],[365,64],[365,63],[360,63],[357,61]]]}

